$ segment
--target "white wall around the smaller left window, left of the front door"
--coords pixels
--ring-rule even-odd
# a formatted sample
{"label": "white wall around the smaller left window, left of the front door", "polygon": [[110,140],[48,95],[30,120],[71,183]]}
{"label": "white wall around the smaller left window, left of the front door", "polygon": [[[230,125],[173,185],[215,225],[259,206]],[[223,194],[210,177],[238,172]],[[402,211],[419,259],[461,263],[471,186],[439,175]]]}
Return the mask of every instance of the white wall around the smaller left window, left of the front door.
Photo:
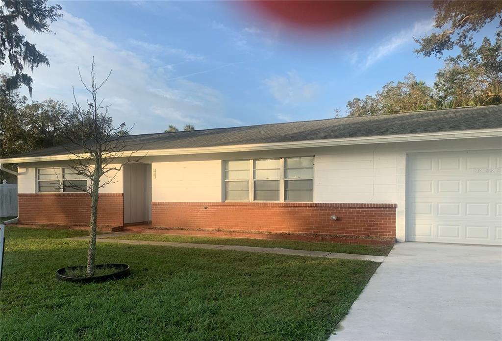
{"label": "white wall around the smaller left window, left of the front door", "polygon": [[[45,167],[65,167],[67,163],[63,162],[39,162],[39,163],[24,163],[18,167],[18,193],[32,194],[37,193],[37,168]],[[110,164],[109,167],[119,166],[118,164]],[[110,171],[108,174],[101,177],[101,183],[110,181],[113,176],[113,183],[99,189],[99,193],[123,193],[122,172]]]}

